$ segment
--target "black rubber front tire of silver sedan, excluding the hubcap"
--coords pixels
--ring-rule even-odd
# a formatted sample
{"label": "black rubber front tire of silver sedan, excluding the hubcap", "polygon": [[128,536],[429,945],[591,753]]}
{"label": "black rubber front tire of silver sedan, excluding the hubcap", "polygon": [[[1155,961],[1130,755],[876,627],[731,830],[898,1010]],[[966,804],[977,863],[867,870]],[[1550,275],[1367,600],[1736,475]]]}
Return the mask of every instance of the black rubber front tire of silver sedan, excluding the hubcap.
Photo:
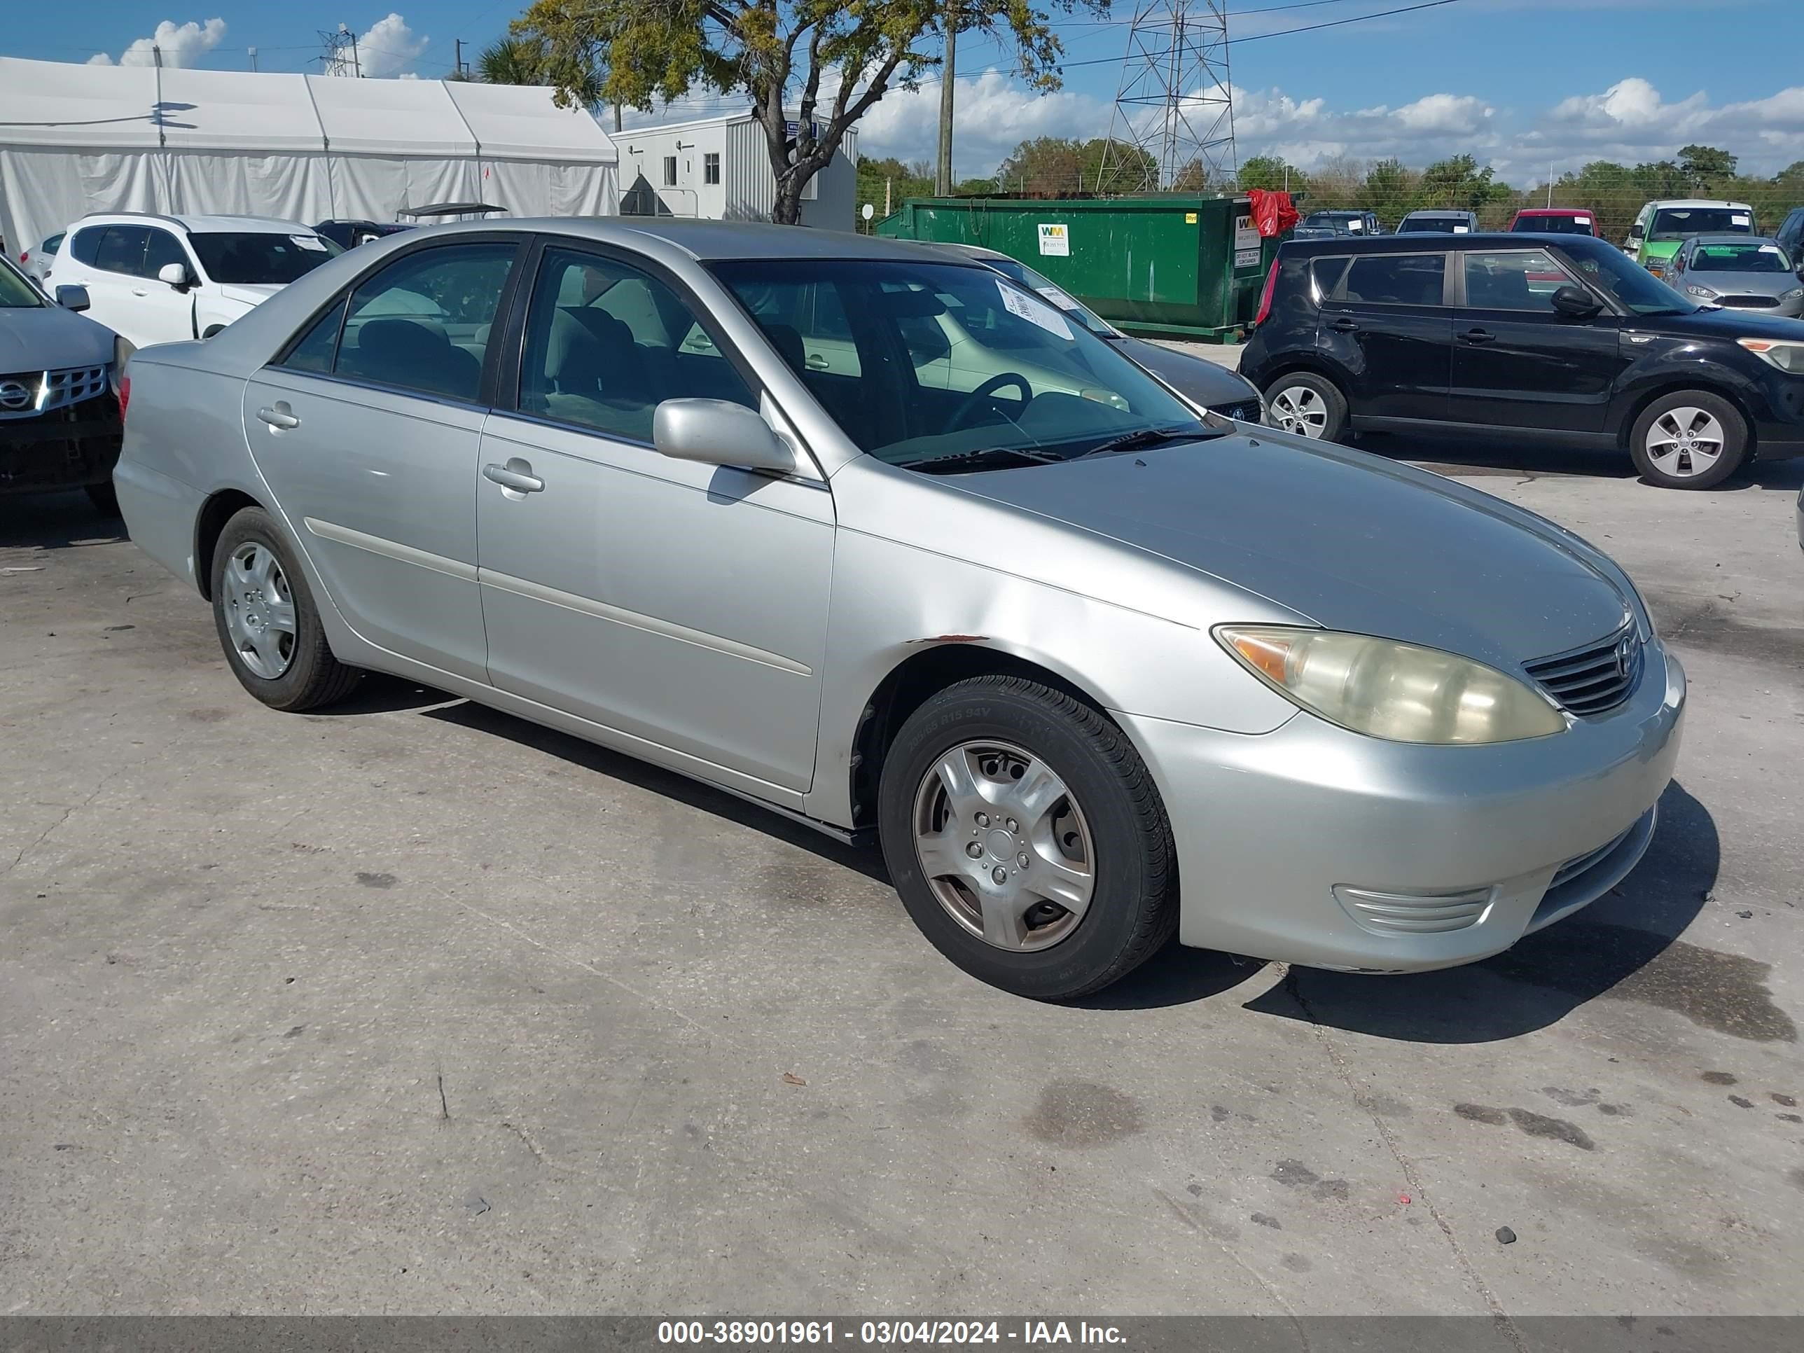
{"label": "black rubber front tire of silver sedan, excluding the hubcap", "polygon": [[[998,947],[954,920],[915,848],[924,781],[949,750],[985,740],[1045,761],[1081,805],[1093,841],[1090,906],[1045,949]],[[1017,996],[1061,1001],[1100,990],[1176,929],[1176,851],[1146,763],[1095,709],[1037,682],[974,676],[916,709],[884,758],[879,824],[889,877],[927,940],[965,972]]]}

